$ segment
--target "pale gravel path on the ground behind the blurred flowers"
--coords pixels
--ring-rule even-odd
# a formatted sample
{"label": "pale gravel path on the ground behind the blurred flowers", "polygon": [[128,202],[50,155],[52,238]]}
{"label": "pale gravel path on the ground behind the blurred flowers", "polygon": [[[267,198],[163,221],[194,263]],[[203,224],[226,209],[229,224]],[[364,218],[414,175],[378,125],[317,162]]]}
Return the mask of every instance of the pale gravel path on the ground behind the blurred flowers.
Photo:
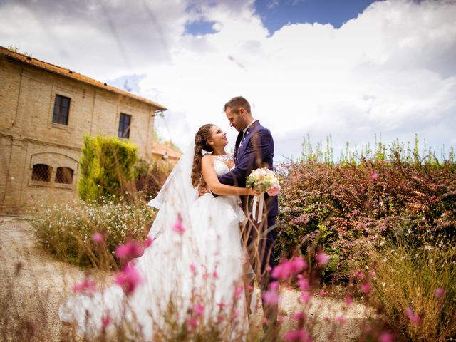
{"label": "pale gravel path on the ground behind the blurred flowers", "polygon": [[[0,217],[0,339],[1,341],[69,341],[71,329],[58,320],[58,306],[71,295],[71,285],[84,278],[74,266],[56,261],[38,247],[31,225],[18,217]],[[106,281],[106,274],[91,274]],[[106,282],[105,281],[105,282]],[[280,308],[289,318],[302,308],[299,291],[281,289]],[[366,306],[314,296],[304,312],[316,321],[316,341],[337,328],[336,341],[356,341],[361,321],[371,314]],[[343,318],[334,319],[337,316]],[[261,311],[257,318],[261,320]],[[330,318],[328,320],[328,318]],[[341,323],[342,321],[342,323]],[[292,328],[284,321],[281,331]]]}

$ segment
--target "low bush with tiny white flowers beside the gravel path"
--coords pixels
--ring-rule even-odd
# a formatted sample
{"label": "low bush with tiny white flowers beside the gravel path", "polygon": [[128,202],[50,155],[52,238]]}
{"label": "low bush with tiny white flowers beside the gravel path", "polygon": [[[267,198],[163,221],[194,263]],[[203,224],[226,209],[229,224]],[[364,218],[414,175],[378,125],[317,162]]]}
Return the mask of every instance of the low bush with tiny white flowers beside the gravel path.
{"label": "low bush with tiny white flowers beside the gravel path", "polygon": [[[120,261],[112,256],[129,239],[144,240],[155,212],[145,202],[127,203],[113,197],[98,202],[76,200],[38,208],[33,228],[41,246],[58,259],[77,266],[110,269]],[[93,236],[103,236],[103,250]]]}

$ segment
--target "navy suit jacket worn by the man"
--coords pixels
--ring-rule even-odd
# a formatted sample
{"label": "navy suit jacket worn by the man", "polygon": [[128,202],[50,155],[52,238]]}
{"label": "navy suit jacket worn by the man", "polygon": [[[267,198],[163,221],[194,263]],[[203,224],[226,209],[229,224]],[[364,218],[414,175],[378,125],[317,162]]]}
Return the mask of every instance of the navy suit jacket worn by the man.
{"label": "navy suit jacket worn by the man", "polygon": [[[242,141],[241,141],[242,140]],[[252,170],[259,167],[268,167],[274,170],[274,140],[271,132],[255,121],[247,129],[244,138],[239,133],[234,146],[234,169],[219,176],[219,181],[226,185],[245,187],[246,178]],[[277,196],[269,197],[264,194],[268,217],[276,216],[279,202]],[[246,204],[248,196],[241,196],[242,204]]]}

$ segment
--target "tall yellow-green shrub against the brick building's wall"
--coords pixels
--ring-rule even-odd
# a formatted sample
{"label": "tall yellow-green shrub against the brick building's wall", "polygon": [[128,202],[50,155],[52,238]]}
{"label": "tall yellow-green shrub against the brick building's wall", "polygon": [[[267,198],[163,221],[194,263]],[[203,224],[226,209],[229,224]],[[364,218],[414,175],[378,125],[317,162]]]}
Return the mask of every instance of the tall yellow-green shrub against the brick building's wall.
{"label": "tall yellow-green shrub against the brick building's wall", "polygon": [[84,137],[79,177],[79,197],[84,201],[100,201],[121,190],[133,180],[137,147],[115,137]]}

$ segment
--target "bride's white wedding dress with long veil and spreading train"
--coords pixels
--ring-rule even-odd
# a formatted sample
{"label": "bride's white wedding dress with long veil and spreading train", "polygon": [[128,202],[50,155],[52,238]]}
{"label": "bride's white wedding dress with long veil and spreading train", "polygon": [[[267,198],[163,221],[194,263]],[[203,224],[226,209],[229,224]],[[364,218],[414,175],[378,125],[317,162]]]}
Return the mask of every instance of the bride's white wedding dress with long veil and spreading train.
{"label": "bride's white wedding dress with long veil and spreading train", "polygon": [[[109,316],[108,332],[120,328],[135,341],[153,341],[157,331],[166,330],[170,300],[178,307],[179,317],[175,318],[180,323],[199,304],[204,306],[205,322],[217,322],[220,310],[224,310],[225,315],[236,317],[228,323],[229,331],[236,331],[236,336],[247,331],[239,233],[244,212],[235,196],[207,193],[197,197],[190,182],[191,150],[150,202],[160,209],[149,232],[156,239],[132,261],[141,276],[134,293],[126,296],[113,284],[102,292],[71,297],[60,307],[61,321],[73,323],[78,335],[89,339],[100,336],[102,318]],[[217,159],[214,169],[217,175],[229,171]],[[182,234],[172,229],[178,215],[185,229]]]}

